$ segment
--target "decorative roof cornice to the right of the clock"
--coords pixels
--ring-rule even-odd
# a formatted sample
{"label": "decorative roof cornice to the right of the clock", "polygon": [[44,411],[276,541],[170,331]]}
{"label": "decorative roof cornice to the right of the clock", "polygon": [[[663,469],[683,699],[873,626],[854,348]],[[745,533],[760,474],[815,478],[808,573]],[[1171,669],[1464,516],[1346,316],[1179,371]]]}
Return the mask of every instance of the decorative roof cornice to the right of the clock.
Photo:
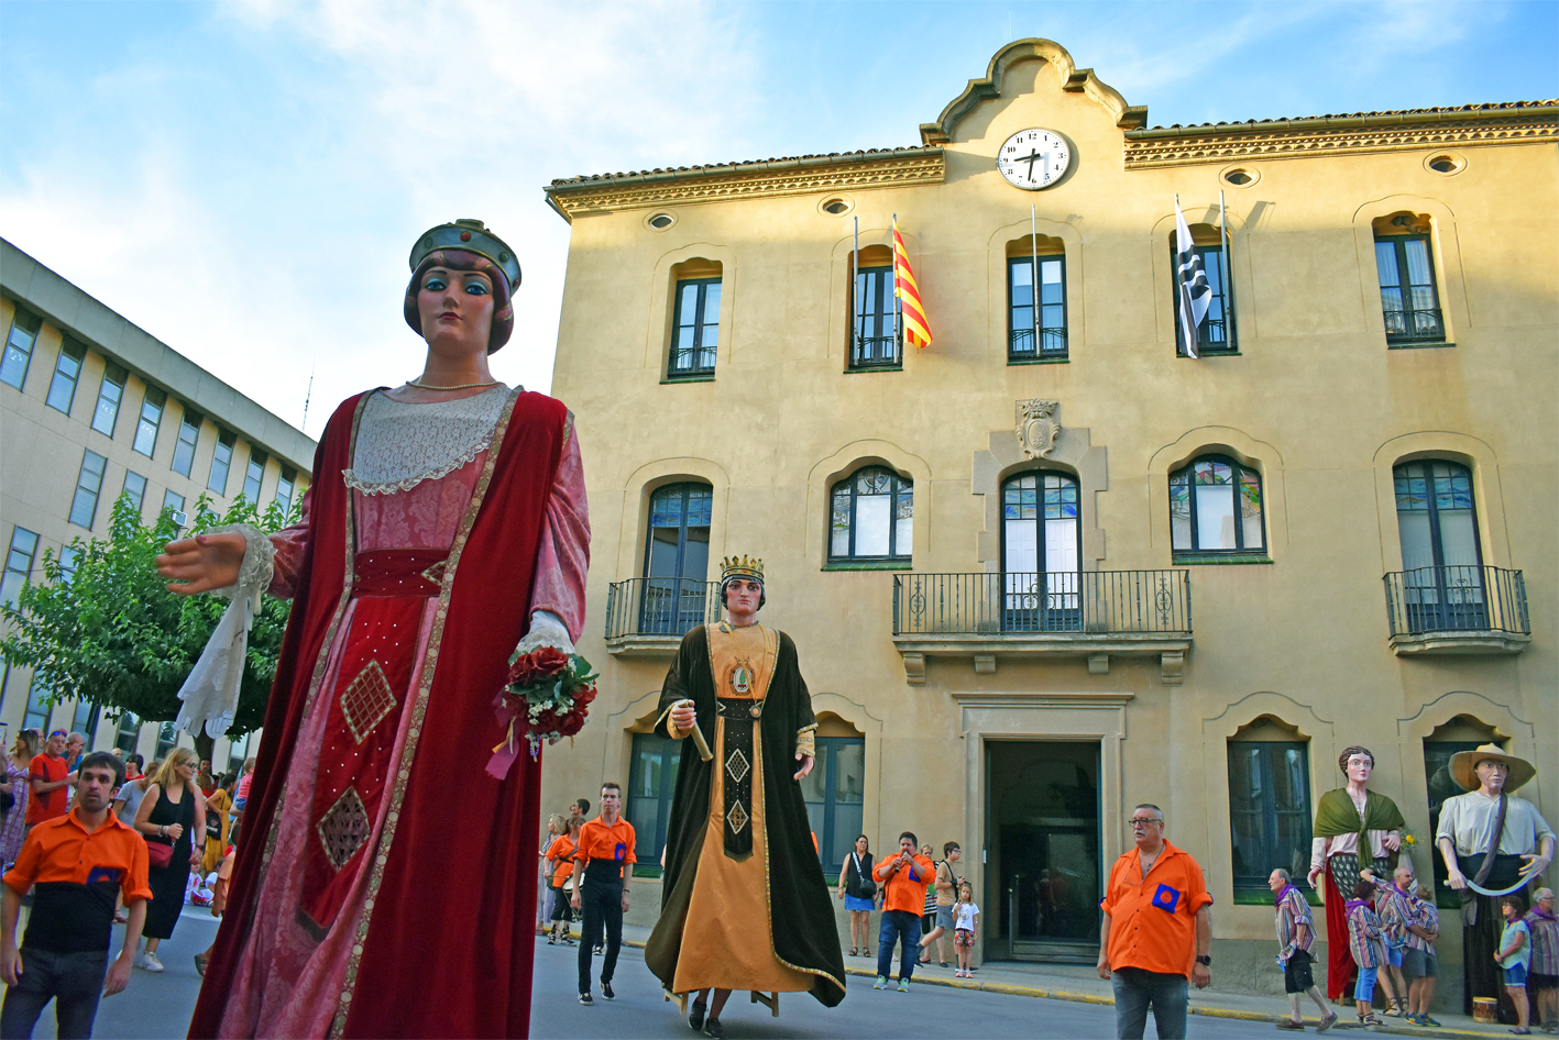
{"label": "decorative roof cornice to the right of the clock", "polygon": [[1193,167],[1239,159],[1470,148],[1559,139],[1559,103],[1422,112],[1320,115],[1126,132],[1126,168]]}

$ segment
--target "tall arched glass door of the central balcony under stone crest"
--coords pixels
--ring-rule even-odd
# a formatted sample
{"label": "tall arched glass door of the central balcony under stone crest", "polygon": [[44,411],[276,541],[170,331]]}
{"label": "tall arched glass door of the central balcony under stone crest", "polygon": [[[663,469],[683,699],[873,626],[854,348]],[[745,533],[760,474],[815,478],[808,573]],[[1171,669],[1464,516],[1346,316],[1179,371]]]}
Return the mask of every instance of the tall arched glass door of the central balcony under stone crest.
{"label": "tall arched glass door of the central balcony under stone crest", "polygon": [[1071,632],[1082,627],[1077,478],[1030,472],[1001,486],[1002,627]]}

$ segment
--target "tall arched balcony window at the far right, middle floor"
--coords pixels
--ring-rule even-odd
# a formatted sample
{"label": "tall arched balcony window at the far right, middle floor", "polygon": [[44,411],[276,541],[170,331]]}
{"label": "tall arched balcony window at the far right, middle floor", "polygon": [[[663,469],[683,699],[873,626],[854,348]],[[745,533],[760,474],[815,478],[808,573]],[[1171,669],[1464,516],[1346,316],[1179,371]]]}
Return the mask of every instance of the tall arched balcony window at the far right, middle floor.
{"label": "tall arched balcony window at the far right, middle floor", "polygon": [[1392,467],[1408,631],[1486,629],[1472,472],[1425,459]]}

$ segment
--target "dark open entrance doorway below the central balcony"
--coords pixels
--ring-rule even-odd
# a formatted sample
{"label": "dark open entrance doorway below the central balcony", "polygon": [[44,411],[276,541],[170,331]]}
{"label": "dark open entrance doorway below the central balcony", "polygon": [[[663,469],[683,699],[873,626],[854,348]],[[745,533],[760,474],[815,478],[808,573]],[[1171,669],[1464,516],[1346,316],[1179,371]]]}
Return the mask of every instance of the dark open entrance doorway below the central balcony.
{"label": "dark open entrance doorway below the central balcony", "polygon": [[1099,954],[1099,743],[985,746],[987,959]]}

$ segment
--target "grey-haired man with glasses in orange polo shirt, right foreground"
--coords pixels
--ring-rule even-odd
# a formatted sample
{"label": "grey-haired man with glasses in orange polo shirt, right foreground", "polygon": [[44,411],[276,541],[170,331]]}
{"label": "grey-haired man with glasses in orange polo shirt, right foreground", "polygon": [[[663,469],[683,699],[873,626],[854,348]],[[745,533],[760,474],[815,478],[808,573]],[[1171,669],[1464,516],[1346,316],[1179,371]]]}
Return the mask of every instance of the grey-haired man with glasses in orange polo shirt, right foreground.
{"label": "grey-haired man with glasses in orange polo shirt, right foreground", "polygon": [[1115,982],[1115,1029],[1141,1040],[1147,1007],[1160,1040],[1185,1040],[1186,976],[1213,981],[1213,897],[1202,866],[1165,841],[1157,805],[1132,810],[1137,847],[1110,867],[1099,909],[1099,978]]}

